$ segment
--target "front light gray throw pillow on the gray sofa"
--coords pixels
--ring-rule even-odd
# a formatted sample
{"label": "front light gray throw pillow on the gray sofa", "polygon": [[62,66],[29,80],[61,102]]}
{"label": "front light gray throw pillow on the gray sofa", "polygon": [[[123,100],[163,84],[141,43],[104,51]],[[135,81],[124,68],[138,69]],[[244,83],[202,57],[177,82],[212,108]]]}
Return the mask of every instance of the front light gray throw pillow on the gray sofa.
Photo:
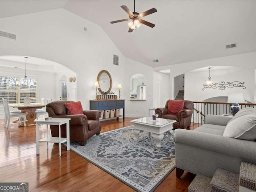
{"label": "front light gray throw pillow on the gray sofa", "polygon": [[223,136],[254,141],[256,139],[256,114],[244,115],[230,121]]}

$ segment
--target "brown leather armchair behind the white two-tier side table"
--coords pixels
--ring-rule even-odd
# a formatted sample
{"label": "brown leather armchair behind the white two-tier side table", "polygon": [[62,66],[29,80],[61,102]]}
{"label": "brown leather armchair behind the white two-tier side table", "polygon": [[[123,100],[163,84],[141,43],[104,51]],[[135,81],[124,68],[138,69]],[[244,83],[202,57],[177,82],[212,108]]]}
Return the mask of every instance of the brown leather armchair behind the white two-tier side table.
{"label": "brown leather armchair behind the white two-tier side table", "polygon": [[[70,124],[70,140],[78,142],[81,146],[86,145],[86,141],[94,134],[99,135],[101,124],[99,118],[101,112],[99,110],[85,110],[83,114],[69,115],[65,103],[73,101],[54,101],[46,105],[46,112],[52,118],[71,118]],[[59,136],[59,129],[56,125],[51,125],[52,137]],[[61,125],[61,137],[66,137],[66,124]]]}

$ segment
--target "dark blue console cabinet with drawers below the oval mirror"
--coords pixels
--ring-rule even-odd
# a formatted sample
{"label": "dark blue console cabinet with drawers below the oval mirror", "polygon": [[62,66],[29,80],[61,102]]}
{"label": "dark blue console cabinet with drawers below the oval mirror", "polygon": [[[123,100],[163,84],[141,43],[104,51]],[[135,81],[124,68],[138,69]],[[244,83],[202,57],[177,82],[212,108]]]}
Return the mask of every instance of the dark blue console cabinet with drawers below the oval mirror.
{"label": "dark blue console cabinet with drawers below the oval mirror", "polygon": [[111,110],[123,109],[124,119],[124,99],[120,100],[90,100],[90,110]]}

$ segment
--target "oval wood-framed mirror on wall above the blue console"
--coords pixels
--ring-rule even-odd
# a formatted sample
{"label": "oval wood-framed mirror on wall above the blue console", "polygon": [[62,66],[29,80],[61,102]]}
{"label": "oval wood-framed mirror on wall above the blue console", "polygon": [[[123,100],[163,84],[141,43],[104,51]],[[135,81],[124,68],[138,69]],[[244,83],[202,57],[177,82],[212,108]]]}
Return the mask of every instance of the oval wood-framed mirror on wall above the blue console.
{"label": "oval wood-framed mirror on wall above the blue console", "polygon": [[108,71],[102,70],[99,72],[97,81],[99,82],[100,88],[98,88],[101,94],[108,93],[112,88],[112,78]]}

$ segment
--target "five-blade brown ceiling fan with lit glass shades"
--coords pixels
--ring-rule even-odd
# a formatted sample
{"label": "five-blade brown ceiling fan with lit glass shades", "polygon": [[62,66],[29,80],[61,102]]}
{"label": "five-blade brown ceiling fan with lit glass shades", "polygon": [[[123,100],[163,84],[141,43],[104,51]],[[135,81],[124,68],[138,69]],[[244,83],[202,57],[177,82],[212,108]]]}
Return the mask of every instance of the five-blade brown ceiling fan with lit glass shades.
{"label": "five-blade brown ceiling fan with lit glass shades", "polygon": [[142,13],[137,13],[137,12],[135,12],[135,0],[134,0],[134,12],[132,12],[130,9],[128,9],[128,7],[126,7],[125,5],[122,5],[121,8],[123,10],[125,10],[126,13],[129,14],[129,18],[111,21],[110,23],[118,23],[118,22],[122,22],[122,21],[132,20],[131,22],[128,23],[128,26],[129,26],[128,32],[133,32],[133,30],[138,29],[141,26],[141,24],[144,24],[144,25],[152,27],[152,28],[155,26],[155,24],[147,22],[147,21],[141,19],[141,17],[147,16],[149,14],[156,12],[156,8],[152,8],[152,9],[147,10]]}

